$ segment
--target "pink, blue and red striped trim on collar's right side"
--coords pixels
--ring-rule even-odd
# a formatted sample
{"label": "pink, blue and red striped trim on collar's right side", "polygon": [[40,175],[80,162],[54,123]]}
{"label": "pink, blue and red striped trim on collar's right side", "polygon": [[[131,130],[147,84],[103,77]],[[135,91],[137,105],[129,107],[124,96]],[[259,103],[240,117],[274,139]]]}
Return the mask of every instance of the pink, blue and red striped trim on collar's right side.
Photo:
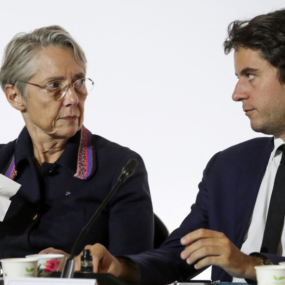
{"label": "pink, blue and red striped trim on collar's right side", "polygon": [[93,150],[91,132],[85,126],[81,128],[81,137],[78,148],[77,171],[74,177],[86,180],[90,175],[93,166]]}

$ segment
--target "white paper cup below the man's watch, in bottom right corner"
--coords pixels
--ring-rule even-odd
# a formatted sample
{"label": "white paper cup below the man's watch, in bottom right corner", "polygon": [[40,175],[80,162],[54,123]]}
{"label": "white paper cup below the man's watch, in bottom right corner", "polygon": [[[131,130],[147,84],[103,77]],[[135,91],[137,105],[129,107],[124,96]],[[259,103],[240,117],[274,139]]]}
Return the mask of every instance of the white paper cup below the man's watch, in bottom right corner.
{"label": "white paper cup below the man's watch, in bottom right corner", "polygon": [[255,266],[257,285],[285,285],[285,266]]}

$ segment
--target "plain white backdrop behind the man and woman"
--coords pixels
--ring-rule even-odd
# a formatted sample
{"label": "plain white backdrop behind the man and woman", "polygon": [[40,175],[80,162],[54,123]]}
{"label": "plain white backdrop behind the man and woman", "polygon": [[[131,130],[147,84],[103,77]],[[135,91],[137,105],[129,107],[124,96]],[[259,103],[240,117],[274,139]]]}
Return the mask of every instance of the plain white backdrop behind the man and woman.
{"label": "plain white backdrop behind the man and woman", "polygon": [[[95,88],[85,126],[142,155],[154,211],[170,231],[190,211],[211,156],[254,133],[241,103],[228,24],[284,0],[1,1],[0,54],[18,32],[61,25],[80,43]],[[21,114],[0,99],[0,143],[14,140]],[[261,135],[262,136],[262,135]]]}

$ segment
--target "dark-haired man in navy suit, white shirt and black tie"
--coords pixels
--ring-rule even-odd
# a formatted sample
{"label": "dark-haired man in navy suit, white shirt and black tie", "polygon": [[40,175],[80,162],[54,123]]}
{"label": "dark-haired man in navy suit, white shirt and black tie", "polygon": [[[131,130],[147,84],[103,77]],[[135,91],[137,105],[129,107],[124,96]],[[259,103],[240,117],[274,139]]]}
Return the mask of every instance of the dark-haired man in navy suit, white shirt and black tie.
{"label": "dark-haired man in navy suit, white shirt and black tie", "polygon": [[238,83],[232,99],[242,102],[254,131],[274,137],[253,139],[214,155],[191,213],[159,249],[128,256],[130,261],[111,256],[100,245],[90,246],[95,270],[154,285],[192,278],[213,265],[212,280],[237,282],[256,280],[256,265],[285,260],[284,232],[275,253],[266,253],[263,246],[282,156],[279,147],[285,144],[285,9],[231,23],[224,47],[226,54],[235,51]]}

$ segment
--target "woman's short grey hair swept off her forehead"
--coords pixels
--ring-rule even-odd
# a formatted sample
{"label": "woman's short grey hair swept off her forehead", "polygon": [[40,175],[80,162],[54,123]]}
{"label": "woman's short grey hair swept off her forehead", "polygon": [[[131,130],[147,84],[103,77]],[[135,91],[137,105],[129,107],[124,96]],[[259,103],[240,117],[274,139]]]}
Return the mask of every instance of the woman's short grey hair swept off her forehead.
{"label": "woman's short grey hair swept off her forehead", "polygon": [[86,57],[80,45],[60,26],[35,29],[29,33],[18,33],[4,50],[0,69],[0,85],[4,91],[6,84],[15,85],[24,100],[27,100],[26,83],[36,73],[36,53],[48,46],[70,48],[78,63],[86,70]]}

